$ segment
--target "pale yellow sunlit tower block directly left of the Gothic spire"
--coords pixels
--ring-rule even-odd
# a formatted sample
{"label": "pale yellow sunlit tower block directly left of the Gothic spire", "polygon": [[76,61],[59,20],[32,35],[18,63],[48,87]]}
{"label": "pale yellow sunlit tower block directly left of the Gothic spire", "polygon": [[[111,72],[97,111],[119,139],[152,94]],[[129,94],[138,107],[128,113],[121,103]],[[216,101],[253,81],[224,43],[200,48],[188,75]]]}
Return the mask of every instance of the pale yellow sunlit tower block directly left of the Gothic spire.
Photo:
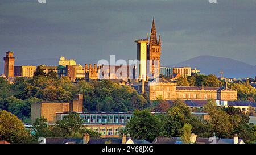
{"label": "pale yellow sunlit tower block directly left of the Gothic spire", "polygon": [[138,64],[139,79],[146,81],[148,40],[138,39],[138,40],[135,40],[135,43],[137,43],[137,59],[139,60],[139,64]]}

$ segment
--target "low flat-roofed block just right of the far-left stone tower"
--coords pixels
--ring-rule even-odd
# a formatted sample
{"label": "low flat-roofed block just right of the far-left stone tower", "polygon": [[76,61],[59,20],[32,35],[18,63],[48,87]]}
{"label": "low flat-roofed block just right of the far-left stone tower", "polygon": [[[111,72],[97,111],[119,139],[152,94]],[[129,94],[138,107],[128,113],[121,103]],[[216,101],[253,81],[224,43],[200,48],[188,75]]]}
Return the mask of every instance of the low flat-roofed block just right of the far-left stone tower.
{"label": "low flat-roofed block just right of the far-left stone tower", "polygon": [[36,66],[14,66],[14,77],[28,77],[32,78]]}

